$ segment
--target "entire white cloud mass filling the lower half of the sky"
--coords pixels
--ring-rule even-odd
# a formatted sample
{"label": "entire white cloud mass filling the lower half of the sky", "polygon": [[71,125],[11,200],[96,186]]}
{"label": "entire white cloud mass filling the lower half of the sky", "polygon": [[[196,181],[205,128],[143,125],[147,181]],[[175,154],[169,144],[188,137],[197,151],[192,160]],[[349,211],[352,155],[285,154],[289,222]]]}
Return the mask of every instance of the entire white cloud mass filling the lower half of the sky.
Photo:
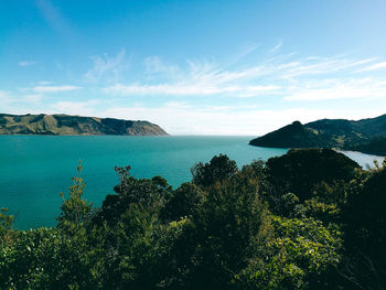
{"label": "entire white cloud mass filling the lower half of the sky", "polygon": [[[173,135],[256,136],[297,119],[308,122],[320,118],[358,119],[384,114],[386,80],[373,74],[383,67],[383,60],[342,55],[299,57],[293,53],[279,54],[281,45],[278,43],[272,49],[275,54],[268,52],[264,60],[243,61],[243,65],[237,61],[253,53],[256,45],[246,49],[235,62],[224,65],[213,60],[187,60],[183,65],[176,65],[160,56],[150,56],[141,63],[140,78],[132,82],[122,80],[127,61],[126,52],[121,50],[114,57],[107,54],[94,57],[93,68],[84,75],[87,80],[105,84],[101,88],[105,95],[99,101],[46,98],[43,103],[44,95],[50,93],[85,89],[45,82],[20,89],[18,98],[14,94],[0,92],[0,100],[2,105],[20,109],[29,107],[24,103],[31,104],[31,111],[40,108],[51,114],[144,119]],[[248,60],[256,60],[249,56]],[[363,73],[356,74],[358,71]],[[98,92],[98,87],[89,89],[96,95]],[[25,101],[21,103],[23,98]],[[352,99],[356,105],[335,101]],[[164,105],[156,105],[160,103]],[[133,105],[130,107],[130,104]],[[6,105],[3,107],[8,108]],[[361,105],[364,108],[358,107]]]}

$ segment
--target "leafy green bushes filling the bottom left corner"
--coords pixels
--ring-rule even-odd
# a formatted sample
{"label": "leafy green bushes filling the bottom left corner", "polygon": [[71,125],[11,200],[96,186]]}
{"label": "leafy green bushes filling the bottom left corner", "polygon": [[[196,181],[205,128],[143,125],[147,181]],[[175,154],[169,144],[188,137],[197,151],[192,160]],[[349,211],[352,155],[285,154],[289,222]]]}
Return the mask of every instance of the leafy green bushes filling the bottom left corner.
{"label": "leafy green bushes filling the bottom left corner", "polygon": [[77,228],[73,236],[56,228],[18,232],[15,241],[2,248],[0,284],[11,289],[96,289],[100,249],[90,248],[95,233]]}

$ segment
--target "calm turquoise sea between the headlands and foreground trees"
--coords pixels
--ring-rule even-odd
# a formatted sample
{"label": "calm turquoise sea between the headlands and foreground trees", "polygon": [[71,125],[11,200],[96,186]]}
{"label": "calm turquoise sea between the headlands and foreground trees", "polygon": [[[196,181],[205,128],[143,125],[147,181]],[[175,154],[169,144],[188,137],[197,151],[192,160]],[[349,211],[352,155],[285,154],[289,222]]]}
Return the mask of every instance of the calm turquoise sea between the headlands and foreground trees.
{"label": "calm turquoise sea between the headlands and foreground trees", "polygon": [[[285,154],[287,149],[248,144],[254,137],[229,136],[0,136],[0,207],[14,215],[18,229],[55,226],[72,176],[86,183],[84,197],[100,206],[118,184],[115,167],[130,165],[135,178],[161,175],[174,189],[192,179],[196,162],[227,154],[242,168],[254,160]],[[344,152],[362,167],[382,158]]]}

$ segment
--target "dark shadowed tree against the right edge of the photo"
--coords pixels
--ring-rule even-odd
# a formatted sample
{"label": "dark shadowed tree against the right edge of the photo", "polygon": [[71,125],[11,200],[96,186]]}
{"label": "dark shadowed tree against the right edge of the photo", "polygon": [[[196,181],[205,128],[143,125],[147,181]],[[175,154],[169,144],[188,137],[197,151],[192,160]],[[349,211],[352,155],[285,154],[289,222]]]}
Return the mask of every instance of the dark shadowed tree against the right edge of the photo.
{"label": "dark shadowed tree against the right edge of the photo", "polygon": [[347,289],[386,288],[386,168],[351,184],[343,208],[345,257],[340,273]]}

